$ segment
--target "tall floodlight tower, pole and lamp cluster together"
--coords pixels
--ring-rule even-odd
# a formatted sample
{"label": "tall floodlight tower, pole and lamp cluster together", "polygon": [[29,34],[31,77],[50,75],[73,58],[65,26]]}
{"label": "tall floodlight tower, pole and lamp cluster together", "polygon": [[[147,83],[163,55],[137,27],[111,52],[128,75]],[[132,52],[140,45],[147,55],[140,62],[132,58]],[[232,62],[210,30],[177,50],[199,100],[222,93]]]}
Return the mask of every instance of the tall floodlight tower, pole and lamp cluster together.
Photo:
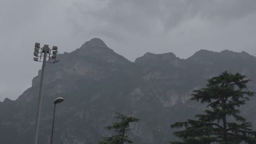
{"label": "tall floodlight tower, pole and lamp cluster together", "polygon": [[[39,98],[37,104],[37,116],[36,116],[36,123],[34,128],[34,137],[33,137],[33,144],[37,144],[38,139],[38,131],[39,131],[39,121],[40,121],[40,114],[41,114],[41,107],[42,107],[42,93],[43,93],[43,85],[44,85],[44,70],[46,63],[56,63],[58,47],[53,46],[53,49],[50,49],[49,45],[44,45],[43,48],[40,48],[40,43],[36,43],[34,45],[34,61],[36,62],[43,62],[42,65],[42,73],[41,73],[41,81],[40,81],[40,89],[39,89]],[[52,52],[52,53],[51,53]],[[41,60],[43,57],[43,61]]]}

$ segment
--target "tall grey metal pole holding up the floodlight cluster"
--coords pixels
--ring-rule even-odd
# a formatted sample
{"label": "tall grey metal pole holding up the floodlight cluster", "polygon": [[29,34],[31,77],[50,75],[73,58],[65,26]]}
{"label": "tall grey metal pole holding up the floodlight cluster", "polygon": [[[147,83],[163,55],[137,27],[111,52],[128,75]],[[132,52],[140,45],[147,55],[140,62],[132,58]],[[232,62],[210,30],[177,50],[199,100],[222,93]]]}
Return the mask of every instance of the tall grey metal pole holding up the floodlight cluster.
{"label": "tall grey metal pole holding up the floodlight cluster", "polygon": [[[43,47],[44,50],[45,47]],[[38,98],[38,104],[37,104],[37,117],[36,117],[36,127],[34,128],[34,138],[33,138],[33,144],[37,144],[38,139],[38,131],[39,131],[39,120],[41,115],[41,107],[42,107],[42,94],[43,94],[43,85],[44,85],[44,69],[45,69],[45,62],[47,58],[47,50],[44,50],[44,61],[42,66],[42,74],[41,74],[41,81],[40,81],[40,89],[39,89],[39,98]]]}

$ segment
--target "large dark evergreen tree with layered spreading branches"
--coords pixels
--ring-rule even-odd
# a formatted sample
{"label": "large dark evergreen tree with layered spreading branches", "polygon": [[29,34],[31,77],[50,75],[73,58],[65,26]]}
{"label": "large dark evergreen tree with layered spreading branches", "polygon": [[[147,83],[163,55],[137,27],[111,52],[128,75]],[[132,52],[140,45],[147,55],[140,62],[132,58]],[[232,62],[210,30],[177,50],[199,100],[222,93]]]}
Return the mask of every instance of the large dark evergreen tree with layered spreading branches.
{"label": "large dark evergreen tree with layered spreading branches", "polygon": [[205,114],[196,115],[197,120],[177,122],[171,128],[183,128],[173,134],[182,143],[256,143],[255,131],[246,118],[240,116],[239,107],[246,104],[254,93],[247,91],[246,76],[230,74],[227,71],[208,80],[206,88],[194,91],[191,100],[200,101],[206,106]]}

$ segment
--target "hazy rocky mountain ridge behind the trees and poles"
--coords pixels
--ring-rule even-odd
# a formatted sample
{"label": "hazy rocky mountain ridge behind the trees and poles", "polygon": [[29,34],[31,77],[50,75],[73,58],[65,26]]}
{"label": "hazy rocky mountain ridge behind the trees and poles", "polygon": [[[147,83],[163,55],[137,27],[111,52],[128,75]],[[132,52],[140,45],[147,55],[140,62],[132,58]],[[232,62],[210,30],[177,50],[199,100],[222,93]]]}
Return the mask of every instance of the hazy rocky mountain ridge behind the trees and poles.
{"label": "hazy rocky mountain ridge behind the trees and poles", "polygon": [[[168,143],[176,139],[170,124],[192,118],[203,106],[191,102],[191,92],[205,87],[207,79],[224,70],[241,73],[256,91],[256,57],[246,52],[200,50],[187,59],[173,53],[144,56],[130,62],[98,38],[79,49],[58,55],[59,63],[47,64],[43,92],[39,144],[49,143],[53,100],[56,107],[54,143],[97,143],[112,132],[104,129],[115,122],[114,111],[140,118],[131,124],[134,143]],[[17,100],[0,102],[0,142],[32,142],[41,71]],[[242,115],[256,126],[252,98]],[[255,129],[256,127],[254,127]]]}

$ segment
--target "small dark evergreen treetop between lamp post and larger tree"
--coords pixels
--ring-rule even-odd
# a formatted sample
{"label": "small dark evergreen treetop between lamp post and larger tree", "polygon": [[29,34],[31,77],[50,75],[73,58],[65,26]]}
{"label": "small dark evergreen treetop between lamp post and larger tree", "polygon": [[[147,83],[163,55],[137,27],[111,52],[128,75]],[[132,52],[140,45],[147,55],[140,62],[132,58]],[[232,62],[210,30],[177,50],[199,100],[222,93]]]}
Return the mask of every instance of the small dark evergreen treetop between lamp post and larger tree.
{"label": "small dark evergreen treetop between lamp post and larger tree", "polygon": [[140,119],[136,117],[127,117],[125,115],[122,115],[118,112],[115,112],[116,117],[120,119],[120,122],[113,123],[113,125],[106,127],[108,130],[115,130],[115,133],[117,135],[111,136],[111,137],[102,137],[103,141],[98,142],[98,144],[124,144],[126,143],[132,143],[131,140],[129,140],[129,137],[126,135],[128,131],[130,131],[130,123],[132,122],[139,122]]}

